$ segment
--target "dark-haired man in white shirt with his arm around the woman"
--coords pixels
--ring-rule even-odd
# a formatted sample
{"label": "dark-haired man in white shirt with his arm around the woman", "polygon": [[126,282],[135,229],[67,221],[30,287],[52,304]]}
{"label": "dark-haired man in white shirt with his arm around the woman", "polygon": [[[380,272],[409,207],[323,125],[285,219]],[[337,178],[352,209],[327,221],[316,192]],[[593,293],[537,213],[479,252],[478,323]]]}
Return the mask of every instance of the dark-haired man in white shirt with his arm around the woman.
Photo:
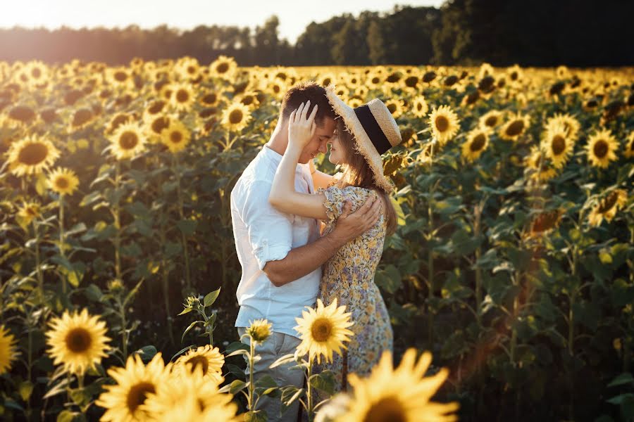
{"label": "dark-haired man in white shirt with his arm around the woman", "polygon": [[[278,385],[302,388],[304,373],[290,371],[287,364],[269,369],[275,360],[294,353],[297,338],[295,318],[306,306],[313,306],[321,279],[321,265],[345,243],[351,241],[378,221],[380,200],[370,200],[354,213],[350,204],[337,219],[337,226],[327,236],[320,237],[315,219],[287,215],[268,203],[275,170],[288,145],[288,118],[303,102],[317,105],[317,129],[313,139],[300,155],[295,171],[295,189],[313,193],[314,186],[309,161],[327,151],[327,143],[335,132],[335,112],[325,89],[313,82],[297,84],[282,99],[281,113],[271,140],[263,146],[238,179],[231,192],[231,217],[237,257],[242,265],[242,278],[236,296],[240,311],[235,326],[242,338],[245,327],[255,319],[267,319],[273,333],[256,354],[261,360],[254,365],[254,378],[272,376]],[[249,342],[242,338],[243,343]],[[249,368],[247,368],[249,371]],[[247,372],[248,373],[248,372]],[[259,408],[266,411],[269,421],[296,421],[299,402],[280,416],[280,400],[262,397]]]}

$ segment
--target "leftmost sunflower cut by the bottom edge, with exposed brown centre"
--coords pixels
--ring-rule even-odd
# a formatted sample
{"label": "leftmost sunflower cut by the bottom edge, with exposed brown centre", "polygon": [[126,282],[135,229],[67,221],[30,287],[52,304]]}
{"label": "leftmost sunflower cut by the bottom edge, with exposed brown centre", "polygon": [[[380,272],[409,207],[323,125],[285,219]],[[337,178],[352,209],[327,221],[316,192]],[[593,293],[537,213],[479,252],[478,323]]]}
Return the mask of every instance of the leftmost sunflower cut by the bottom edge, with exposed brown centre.
{"label": "leftmost sunflower cut by the bottom edge, with exposed brown centre", "polygon": [[[144,406],[150,394],[159,390],[161,385],[168,383],[171,365],[165,366],[161,352],[154,355],[147,365],[143,364],[139,354],[128,357],[125,368],[108,369],[115,385],[104,385],[102,392],[95,402],[104,407],[106,412],[101,421],[146,421],[149,412]],[[178,419],[178,418],[177,418]]]}

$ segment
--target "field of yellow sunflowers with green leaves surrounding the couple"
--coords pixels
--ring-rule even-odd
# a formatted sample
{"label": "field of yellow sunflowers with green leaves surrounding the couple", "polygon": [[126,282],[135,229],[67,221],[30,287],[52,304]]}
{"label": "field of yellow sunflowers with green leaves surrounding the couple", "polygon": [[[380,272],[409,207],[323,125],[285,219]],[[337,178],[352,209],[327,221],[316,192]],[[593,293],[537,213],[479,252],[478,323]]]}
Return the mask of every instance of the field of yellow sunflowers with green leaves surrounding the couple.
{"label": "field of yellow sunflowers with green leaves surrounding the couple", "polygon": [[224,56],[0,62],[0,418],[263,421],[270,395],[313,419],[311,388],[331,388],[310,343],[308,391],[244,374],[229,210],[305,79],[381,98],[403,138],[375,276],[401,363],[318,420],[632,420],[634,68]]}

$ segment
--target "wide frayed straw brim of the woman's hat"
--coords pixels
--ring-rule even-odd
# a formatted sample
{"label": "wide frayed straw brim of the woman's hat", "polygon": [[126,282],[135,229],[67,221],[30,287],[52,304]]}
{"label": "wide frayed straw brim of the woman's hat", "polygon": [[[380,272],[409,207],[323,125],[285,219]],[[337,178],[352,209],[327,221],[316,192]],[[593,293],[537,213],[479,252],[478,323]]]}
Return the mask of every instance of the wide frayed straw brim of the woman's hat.
{"label": "wide frayed straw brim of the woman's hat", "polygon": [[337,96],[334,85],[328,85],[325,90],[328,102],[330,103],[330,106],[332,106],[332,110],[335,110],[335,113],[340,115],[346,130],[354,136],[354,146],[356,151],[359,151],[359,153],[363,155],[363,158],[366,159],[366,162],[370,166],[376,186],[382,188],[383,191],[387,193],[391,193],[394,191],[394,185],[383,174],[383,160],[381,159],[378,151],[376,151],[370,137],[366,134],[365,129],[363,129],[363,125],[359,121],[359,118],[356,117],[354,108],[348,106],[341,98],[339,98],[339,96]]}

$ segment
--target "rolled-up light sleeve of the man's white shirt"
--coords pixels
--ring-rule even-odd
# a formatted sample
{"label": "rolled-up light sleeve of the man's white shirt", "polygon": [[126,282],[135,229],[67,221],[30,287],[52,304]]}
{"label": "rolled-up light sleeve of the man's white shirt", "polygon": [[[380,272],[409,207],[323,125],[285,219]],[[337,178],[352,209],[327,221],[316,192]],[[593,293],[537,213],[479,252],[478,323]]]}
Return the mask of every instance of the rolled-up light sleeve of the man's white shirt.
{"label": "rolled-up light sleeve of the man's white shirt", "polygon": [[292,248],[293,216],[275,210],[268,203],[271,186],[268,181],[254,181],[242,209],[242,220],[260,269],[269,261],[283,260]]}

